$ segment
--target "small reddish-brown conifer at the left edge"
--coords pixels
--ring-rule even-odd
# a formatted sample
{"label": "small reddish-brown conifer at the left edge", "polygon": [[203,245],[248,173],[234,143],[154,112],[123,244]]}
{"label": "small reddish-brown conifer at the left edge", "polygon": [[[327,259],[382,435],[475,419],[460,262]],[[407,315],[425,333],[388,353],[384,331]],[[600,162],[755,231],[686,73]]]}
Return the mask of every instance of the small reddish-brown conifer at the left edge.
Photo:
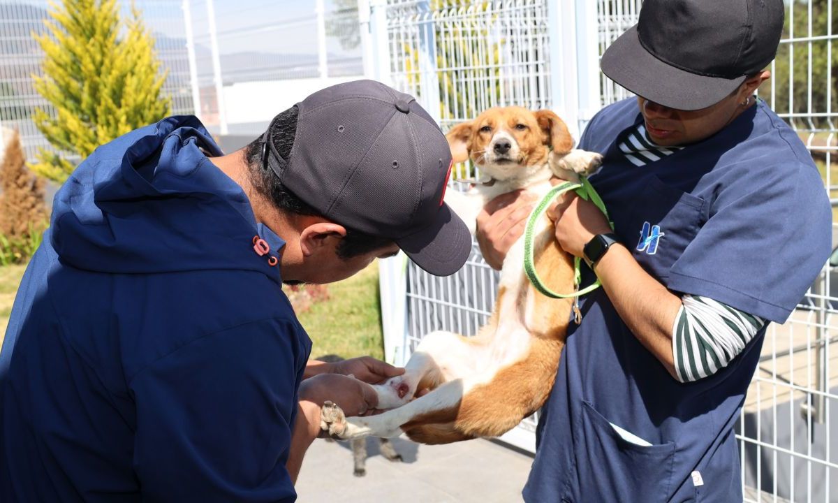
{"label": "small reddish-brown conifer at the left edge", "polygon": [[0,265],[34,253],[46,226],[44,180],[26,169],[20,137],[8,138],[0,163]]}

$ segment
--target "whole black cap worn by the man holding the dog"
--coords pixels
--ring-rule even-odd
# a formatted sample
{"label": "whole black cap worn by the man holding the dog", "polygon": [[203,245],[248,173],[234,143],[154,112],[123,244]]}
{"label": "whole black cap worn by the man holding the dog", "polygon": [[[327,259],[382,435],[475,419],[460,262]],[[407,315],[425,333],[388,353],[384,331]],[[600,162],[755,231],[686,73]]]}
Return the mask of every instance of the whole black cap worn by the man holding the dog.
{"label": "whole black cap worn by the man holding the dog", "polygon": [[600,66],[647,100],[700,110],[771,63],[784,16],[783,0],[644,0]]}

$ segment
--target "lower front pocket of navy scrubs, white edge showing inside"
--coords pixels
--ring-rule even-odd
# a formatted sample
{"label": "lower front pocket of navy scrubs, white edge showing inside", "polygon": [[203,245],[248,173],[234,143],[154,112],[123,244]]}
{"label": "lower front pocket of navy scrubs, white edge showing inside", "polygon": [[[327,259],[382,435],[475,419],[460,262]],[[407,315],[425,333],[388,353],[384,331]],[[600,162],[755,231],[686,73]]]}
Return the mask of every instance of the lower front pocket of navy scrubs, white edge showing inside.
{"label": "lower front pocket of navy scrubs, white edge showing inside", "polygon": [[675,443],[640,445],[623,438],[590,403],[577,430],[582,501],[664,502],[670,498]]}

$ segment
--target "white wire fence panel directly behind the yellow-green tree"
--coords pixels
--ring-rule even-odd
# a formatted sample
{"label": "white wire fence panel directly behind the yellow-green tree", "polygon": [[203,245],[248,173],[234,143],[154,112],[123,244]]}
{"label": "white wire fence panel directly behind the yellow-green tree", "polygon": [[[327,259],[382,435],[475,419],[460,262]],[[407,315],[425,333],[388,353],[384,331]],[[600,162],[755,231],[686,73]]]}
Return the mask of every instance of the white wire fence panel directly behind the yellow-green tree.
{"label": "white wire fence panel directly behind the yellow-green tree", "polygon": [[[129,8],[127,4],[123,6],[122,14],[129,14]],[[163,92],[172,96],[173,112],[192,113],[185,41],[171,35],[183,31],[179,2],[137,0],[137,8],[155,38],[155,49],[163,63],[161,70],[168,70]],[[41,70],[44,53],[31,34],[44,33],[48,11],[46,0],[26,3],[0,0],[0,127],[20,132],[28,158],[34,158],[39,147],[49,148],[32,122],[35,109],[55,113],[49,102],[35,91],[31,78],[31,75],[44,75]]]}

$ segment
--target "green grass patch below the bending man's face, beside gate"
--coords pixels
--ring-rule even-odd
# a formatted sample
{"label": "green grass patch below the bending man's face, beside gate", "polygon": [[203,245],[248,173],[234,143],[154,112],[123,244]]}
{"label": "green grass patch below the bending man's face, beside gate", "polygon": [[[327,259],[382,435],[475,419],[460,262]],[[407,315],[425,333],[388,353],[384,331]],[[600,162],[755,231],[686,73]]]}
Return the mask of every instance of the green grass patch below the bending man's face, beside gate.
{"label": "green grass patch below the bending man's face, beside gate", "polygon": [[328,285],[328,300],[299,314],[312,338],[312,358],[335,354],[344,358],[371,355],[384,358],[378,262],[339,283]]}

